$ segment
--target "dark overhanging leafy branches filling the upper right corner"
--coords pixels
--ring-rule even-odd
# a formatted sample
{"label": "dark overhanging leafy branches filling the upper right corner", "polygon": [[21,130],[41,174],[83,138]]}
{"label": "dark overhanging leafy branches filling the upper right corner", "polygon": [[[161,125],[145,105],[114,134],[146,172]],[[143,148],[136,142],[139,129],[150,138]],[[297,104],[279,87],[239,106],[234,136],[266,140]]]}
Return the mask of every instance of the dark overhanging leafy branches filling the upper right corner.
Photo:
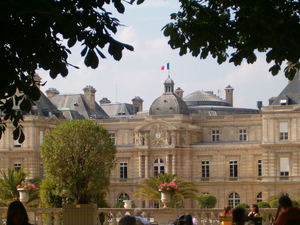
{"label": "dark overhanging leafy branches filling the upper right corner", "polygon": [[205,59],[208,54],[222,64],[229,58],[235,66],[243,59],[256,61],[255,50],[272,62],[269,71],[277,75],[284,61],[285,76],[292,80],[299,69],[300,3],[294,0],[220,1],[179,0],[181,10],[172,13],[173,22],[164,26],[172,49],[179,55],[189,51]]}

